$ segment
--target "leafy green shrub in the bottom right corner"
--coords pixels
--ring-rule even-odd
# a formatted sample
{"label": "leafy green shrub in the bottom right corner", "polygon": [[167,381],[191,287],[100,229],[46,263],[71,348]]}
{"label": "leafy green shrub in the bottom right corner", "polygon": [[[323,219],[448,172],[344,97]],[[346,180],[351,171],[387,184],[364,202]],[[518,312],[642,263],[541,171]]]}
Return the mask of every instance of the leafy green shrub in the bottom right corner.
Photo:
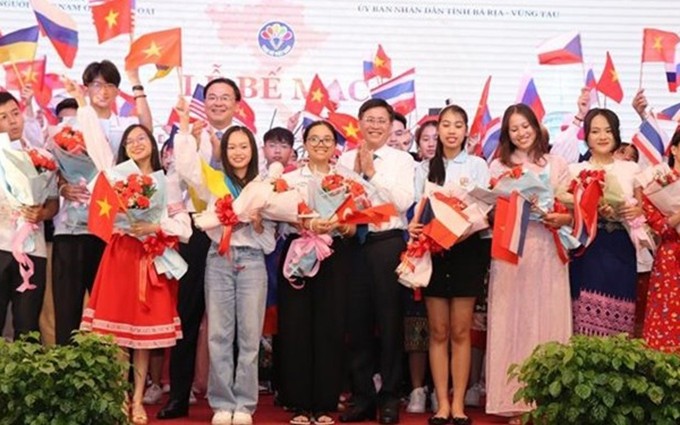
{"label": "leafy green shrub in the bottom right corner", "polygon": [[535,406],[523,423],[680,424],[680,356],[625,335],[540,345],[509,375]]}

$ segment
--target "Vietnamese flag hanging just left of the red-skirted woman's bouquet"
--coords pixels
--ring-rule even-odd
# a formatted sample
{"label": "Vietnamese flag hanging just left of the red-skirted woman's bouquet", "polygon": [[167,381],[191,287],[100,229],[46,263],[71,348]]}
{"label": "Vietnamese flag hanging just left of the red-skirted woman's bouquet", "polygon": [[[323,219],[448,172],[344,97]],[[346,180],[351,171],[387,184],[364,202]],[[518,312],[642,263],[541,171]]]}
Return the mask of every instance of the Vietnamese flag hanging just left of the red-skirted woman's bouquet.
{"label": "Vietnamese flag hanging just left of the red-skirted woman's bouquet", "polygon": [[90,233],[104,242],[109,242],[113,234],[113,222],[120,206],[118,195],[106,176],[99,173],[90,197],[90,210],[87,216],[87,228]]}

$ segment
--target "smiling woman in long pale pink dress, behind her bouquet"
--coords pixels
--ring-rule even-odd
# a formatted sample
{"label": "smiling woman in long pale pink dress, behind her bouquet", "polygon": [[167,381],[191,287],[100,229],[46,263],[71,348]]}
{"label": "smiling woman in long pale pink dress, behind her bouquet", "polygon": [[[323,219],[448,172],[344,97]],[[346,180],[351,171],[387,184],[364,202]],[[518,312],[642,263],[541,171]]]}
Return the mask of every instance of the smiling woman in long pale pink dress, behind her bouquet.
{"label": "smiling woman in long pale pink dress, behind her bouquet", "polygon": [[[508,107],[503,115],[500,157],[490,166],[496,178],[515,167],[533,172],[553,193],[569,181],[567,164],[547,152],[540,124],[524,104]],[[531,406],[513,403],[519,388],[508,382],[508,367],[522,362],[538,345],[566,342],[572,334],[571,300],[567,265],[560,259],[552,229],[571,223],[571,215],[542,211],[531,214],[524,253],[517,264],[491,260],[487,334],[487,401],[490,414],[517,415]]]}

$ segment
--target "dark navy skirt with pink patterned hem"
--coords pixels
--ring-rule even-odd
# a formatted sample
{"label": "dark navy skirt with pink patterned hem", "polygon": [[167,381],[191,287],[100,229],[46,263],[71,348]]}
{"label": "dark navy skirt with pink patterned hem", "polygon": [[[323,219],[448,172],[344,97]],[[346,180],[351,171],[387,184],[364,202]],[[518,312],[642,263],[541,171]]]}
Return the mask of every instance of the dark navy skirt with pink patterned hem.
{"label": "dark navy skirt with pink patterned hem", "polygon": [[574,333],[632,335],[635,327],[635,247],[620,223],[598,223],[597,236],[569,267]]}

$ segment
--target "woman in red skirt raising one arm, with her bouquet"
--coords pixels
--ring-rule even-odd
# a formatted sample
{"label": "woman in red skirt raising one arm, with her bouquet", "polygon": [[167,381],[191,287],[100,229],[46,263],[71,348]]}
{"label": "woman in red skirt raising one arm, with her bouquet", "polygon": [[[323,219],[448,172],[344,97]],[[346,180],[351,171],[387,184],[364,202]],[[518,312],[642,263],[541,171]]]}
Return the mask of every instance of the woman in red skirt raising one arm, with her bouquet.
{"label": "woman in red skirt raising one arm, with her bouquet", "polygon": [[[114,166],[114,153],[96,112],[86,105],[75,83],[67,80],[65,86],[78,101],[78,123],[89,156],[98,170],[114,177],[116,199],[121,207],[127,207],[125,214],[116,216],[114,233],[104,249],[81,329],[112,335],[118,345],[134,350],[130,419],[134,424],[146,424],[142,398],[149,352],[153,348],[171,347],[182,337],[175,308],[177,278],[159,272],[155,259],[176,248],[178,239],[189,238],[190,219],[179,180],[163,174],[152,133],[140,124],[129,126],[123,132],[118,165]],[[92,207],[97,201],[93,195]]]}

